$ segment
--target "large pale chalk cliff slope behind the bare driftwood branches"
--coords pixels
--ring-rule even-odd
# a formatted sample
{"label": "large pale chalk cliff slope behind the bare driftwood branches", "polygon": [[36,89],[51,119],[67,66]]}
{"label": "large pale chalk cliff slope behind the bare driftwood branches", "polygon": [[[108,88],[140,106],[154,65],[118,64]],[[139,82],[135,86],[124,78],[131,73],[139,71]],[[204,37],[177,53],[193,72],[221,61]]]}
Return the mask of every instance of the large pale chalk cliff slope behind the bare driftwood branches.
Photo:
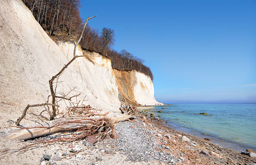
{"label": "large pale chalk cliff slope behind the bare driftwood branches", "polygon": [[[74,45],[56,45],[21,0],[1,1],[0,36],[0,119],[16,120],[27,104],[46,101],[49,79],[72,58]],[[79,57],[69,65],[59,78],[57,92],[75,87],[72,94],[81,93],[78,100],[86,96],[84,104],[119,112],[110,60],[97,54],[88,56],[91,59]],[[64,110],[65,103],[60,104]]]}

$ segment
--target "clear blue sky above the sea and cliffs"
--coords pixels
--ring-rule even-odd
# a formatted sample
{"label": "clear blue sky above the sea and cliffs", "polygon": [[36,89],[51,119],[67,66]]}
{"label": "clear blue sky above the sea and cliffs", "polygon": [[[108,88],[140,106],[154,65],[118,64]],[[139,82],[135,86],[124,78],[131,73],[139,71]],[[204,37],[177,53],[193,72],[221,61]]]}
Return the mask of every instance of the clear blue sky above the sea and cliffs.
{"label": "clear blue sky above the sea and cliffs", "polygon": [[115,50],[146,60],[155,98],[256,102],[256,0],[81,0],[92,28],[115,30]]}

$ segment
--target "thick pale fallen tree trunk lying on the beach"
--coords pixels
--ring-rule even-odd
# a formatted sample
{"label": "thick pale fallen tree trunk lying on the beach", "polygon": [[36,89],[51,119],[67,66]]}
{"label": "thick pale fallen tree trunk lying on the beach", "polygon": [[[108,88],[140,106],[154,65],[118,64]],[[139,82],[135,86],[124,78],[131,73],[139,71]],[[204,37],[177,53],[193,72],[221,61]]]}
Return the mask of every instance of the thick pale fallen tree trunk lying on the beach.
{"label": "thick pale fallen tree trunk lying on the beach", "polygon": [[6,140],[26,140],[30,138],[36,138],[38,136],[48,135],[63,130],[74,130],[79,128],[87,128],[97,124],[97,120],[100,117],[84,117],[84,118],[69,118],[69,119],[56,119],[45,123],[40,123],[34,127],[20,128],[19,130],[13,130],[4,135],[0,135],[0,138]]}

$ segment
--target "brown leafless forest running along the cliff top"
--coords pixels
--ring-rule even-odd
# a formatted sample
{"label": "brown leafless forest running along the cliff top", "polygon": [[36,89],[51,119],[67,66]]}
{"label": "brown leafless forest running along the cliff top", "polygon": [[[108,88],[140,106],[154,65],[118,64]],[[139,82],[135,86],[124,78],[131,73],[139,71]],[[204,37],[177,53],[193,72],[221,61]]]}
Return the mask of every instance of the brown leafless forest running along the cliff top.
{"label": "brown leafless forest running along the cliff top", "polygon": [[[35,19],[54,41],[74,41],[81,34],[83,20],[79,13],[80,0],[23,0]],[[101,32],[88,26],[84,30],[80,46],[110,57],[112,67],[118,70],[136,70],[154,79],[144,60],[127,50],[113,50],[113,29],[102,28]]]}

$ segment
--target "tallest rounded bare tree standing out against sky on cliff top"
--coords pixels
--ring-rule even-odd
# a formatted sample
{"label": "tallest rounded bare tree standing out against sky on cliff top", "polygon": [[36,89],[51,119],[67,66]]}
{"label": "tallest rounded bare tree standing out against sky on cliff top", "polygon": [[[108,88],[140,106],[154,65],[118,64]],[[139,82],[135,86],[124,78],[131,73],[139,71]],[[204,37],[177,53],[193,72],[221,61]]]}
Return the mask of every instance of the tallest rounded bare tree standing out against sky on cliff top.
{"label": "tallest rounded bare tree standing out against sky on cliff top", "polygon": [[102,46],[108,56],[108,48],[114,45],[115,34],[114,30],[110,28],[102,28],[101,30]]}

